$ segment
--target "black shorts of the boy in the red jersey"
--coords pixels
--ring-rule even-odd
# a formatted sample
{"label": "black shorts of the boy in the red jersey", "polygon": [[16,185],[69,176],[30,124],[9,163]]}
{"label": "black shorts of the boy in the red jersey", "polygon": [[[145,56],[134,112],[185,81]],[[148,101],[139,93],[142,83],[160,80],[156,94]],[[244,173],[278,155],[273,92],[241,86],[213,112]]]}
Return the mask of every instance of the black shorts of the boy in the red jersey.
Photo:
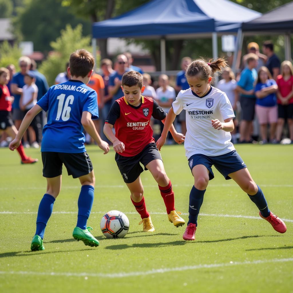
{"label": "black shorts of the boy in the red jersey", "polygon": [[[115,161],[125,183],[134,182],[144,170],[147,170],[147,164],[153,160],[162,160],[156,144],[148,144],[139,154],[133,157],[125,157],[116,153]],[[140,165],[144,165],[144,169]]]}

